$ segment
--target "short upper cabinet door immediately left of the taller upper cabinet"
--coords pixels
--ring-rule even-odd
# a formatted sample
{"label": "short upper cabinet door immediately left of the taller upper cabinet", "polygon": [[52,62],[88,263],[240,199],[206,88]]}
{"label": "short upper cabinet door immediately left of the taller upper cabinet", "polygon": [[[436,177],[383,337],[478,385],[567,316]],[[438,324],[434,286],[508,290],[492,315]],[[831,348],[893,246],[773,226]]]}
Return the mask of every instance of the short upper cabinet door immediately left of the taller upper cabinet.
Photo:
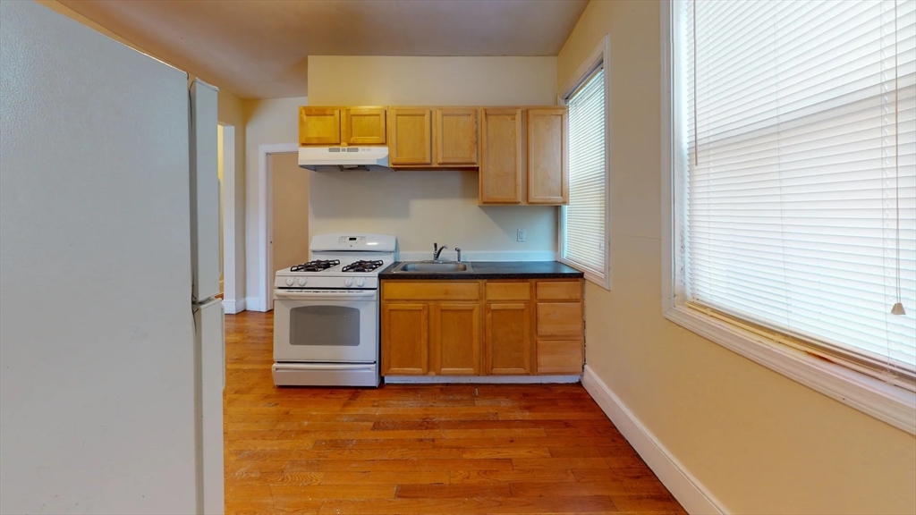
{"label": "short upper cabinet door immediately left of the taller upper cabinet", "polygon": [[477,109],[436,109],[435,118],[432,135],[436,146],[436,164],[476,166]]}

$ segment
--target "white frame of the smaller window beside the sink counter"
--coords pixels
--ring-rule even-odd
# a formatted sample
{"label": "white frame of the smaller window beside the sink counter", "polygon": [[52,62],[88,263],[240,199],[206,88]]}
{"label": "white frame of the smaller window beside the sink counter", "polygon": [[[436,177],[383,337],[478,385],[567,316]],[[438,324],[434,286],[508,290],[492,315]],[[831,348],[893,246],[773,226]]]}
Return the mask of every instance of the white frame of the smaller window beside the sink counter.
{"label": "white frame of the smaller window beside the sink counter", "polygon": [[557,260],[570,267],[581,270],[585,279],[605,290],[611,289],[611,71],[610,71],[610,35],[604,38],[592,50],[569,81],[557,92],[557,104],[566,105],[567,99],[579,89],[598,68],[604,69],[605,82],[605,270],[604,277],[592,270],[582,268],[577,263],[563,257],[566,242],[566,206],[560,207],[557,216]]}

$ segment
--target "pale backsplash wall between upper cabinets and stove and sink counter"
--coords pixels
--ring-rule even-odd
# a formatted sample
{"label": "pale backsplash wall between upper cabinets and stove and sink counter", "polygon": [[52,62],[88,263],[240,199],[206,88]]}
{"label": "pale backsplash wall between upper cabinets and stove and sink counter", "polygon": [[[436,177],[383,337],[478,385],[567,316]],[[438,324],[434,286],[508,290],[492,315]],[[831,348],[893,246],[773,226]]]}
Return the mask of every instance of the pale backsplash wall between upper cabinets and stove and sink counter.
{"label": "pale backsplash wall between upper cabinets and stove and sink counter", "polygon": [[[466,260],[553,259],[557,209],[477,205],[475,171],[310,171],[310,232],[398,236],[402,258],[430,258],[432,242]],[[525,229],[526,241],[516,241]],[[416,253],[416,254],[415,254]]]}

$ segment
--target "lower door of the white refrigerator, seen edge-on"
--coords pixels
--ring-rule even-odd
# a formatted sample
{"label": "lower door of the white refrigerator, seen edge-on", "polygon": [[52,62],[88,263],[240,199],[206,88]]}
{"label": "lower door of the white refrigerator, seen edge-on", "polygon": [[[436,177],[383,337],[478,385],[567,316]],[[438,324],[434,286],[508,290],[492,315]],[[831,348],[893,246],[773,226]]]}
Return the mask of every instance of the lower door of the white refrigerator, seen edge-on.
{"label": "lower door of the white refrigerator, seen edge-on", "polygon": [[225,338],[223,302],[214,299],[194,306],[197,348],[197,447],[202,467],[203,512],[223,513],[223,390],[225,388]]}

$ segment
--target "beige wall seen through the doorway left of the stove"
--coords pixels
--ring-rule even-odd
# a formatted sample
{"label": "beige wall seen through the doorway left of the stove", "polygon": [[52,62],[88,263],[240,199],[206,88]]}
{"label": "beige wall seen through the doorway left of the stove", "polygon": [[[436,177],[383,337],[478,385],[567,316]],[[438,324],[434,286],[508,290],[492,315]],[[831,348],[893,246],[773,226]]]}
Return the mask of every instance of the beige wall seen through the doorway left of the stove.
{"label": "beige wall seen through the doorway left of the stove", "polygon": [[273,268],[288,268],[309,257],[309,174],[296,154],[271,157],[273,179]]}

